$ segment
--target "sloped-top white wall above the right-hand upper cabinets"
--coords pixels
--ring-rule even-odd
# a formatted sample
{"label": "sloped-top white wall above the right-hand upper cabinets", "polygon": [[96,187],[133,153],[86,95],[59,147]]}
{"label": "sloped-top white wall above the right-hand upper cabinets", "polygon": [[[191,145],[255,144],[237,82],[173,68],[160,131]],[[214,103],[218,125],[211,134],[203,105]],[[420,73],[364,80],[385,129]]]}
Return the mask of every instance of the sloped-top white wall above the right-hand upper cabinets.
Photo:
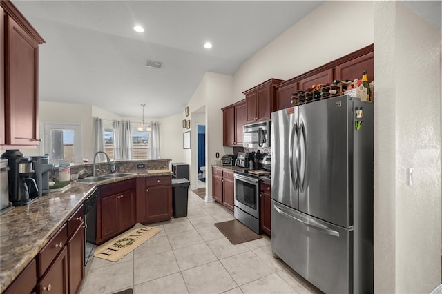
{"label": "sloped-top white wall above the right-hand upper cabinets", "polygon": [[326,1],[242,63],[231,103],[262,81],[291,79],[373,43],[372,12],[372,1]]}

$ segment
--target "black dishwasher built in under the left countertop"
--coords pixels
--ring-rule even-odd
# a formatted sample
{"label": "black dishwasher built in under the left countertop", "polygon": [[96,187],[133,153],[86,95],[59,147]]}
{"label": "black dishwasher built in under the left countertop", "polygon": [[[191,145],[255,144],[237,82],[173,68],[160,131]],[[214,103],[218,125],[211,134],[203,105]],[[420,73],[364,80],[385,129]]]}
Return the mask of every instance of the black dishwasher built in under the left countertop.
{"label": "black dishwasher built in under the left countertop", "polygon": [[97,199],[98,191],[95,189],[84,201],[84,224],[86,237],[84,238],[84,266],[92,259],[97,239]]}

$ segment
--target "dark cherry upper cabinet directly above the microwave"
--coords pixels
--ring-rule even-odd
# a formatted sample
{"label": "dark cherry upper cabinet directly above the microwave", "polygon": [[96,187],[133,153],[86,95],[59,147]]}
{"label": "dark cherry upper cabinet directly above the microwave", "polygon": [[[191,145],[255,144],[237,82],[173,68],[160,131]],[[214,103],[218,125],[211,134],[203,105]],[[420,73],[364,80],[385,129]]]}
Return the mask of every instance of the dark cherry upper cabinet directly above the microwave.
{"label": "dark cherry upper cabinet directly above the microwave", "polygon": [[270,113],[273,111],[273,100],[276,99],[274,86],[282,83],[282,81],[282,79],[269,79],[242,92],[246,96],[247,122],[270,119]]}

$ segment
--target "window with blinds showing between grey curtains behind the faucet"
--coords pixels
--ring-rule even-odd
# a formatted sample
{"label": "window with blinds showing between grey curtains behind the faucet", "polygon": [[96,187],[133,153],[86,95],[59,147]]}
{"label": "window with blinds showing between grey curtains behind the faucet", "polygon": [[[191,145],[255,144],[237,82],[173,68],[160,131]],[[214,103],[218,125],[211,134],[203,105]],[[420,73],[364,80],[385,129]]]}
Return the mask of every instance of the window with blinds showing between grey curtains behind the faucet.
{"label": "window with blinds showing between grey curtains behind the faucet", "polygon": [[[149,159],[150,131],[137,130],[138,124],[131,124],[133,159]],[[113,127],[104,126],[104,151],[113,159]]]}

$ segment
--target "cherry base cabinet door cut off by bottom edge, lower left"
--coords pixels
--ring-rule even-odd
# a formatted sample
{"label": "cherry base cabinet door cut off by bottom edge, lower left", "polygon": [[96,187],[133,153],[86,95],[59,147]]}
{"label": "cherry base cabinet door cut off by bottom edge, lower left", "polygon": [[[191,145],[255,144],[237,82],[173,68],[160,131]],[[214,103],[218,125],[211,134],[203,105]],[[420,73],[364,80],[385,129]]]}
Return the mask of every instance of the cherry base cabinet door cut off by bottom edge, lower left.
{"label": "cherry base cabinet door cut off by bottom edge, lower left", "polygon": [[46,271],[37,285],[37,293],[68,293],[68,249],[61,253]]}

